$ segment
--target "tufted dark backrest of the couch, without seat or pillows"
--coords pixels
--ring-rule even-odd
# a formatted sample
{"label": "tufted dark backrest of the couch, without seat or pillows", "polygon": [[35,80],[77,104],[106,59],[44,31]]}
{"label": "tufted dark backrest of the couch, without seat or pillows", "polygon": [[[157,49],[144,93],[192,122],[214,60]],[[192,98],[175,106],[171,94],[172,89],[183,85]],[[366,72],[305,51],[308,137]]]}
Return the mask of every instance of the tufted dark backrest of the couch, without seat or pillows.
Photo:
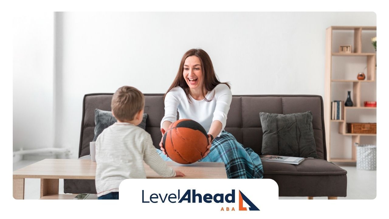
{"label": "tufted dark backrest of the couch, without seat or pillows", "polygon": [[[84,96],[79,157],[89,154],[89,142],[93,140],[95,130],[95,109],[110,111],[112,95]],[[306,111],[313,114],[317,155],[327,159],[323,99],[319,95],[233,95],[225,130],[244,147],[260,154],[263,132],[259,112],[290,114]],[[164,116],[163,94],[145,94],[144,112],[148,114],[146,131],[151,134],[154,146],[159,148],[162,138],[160,123]]]}

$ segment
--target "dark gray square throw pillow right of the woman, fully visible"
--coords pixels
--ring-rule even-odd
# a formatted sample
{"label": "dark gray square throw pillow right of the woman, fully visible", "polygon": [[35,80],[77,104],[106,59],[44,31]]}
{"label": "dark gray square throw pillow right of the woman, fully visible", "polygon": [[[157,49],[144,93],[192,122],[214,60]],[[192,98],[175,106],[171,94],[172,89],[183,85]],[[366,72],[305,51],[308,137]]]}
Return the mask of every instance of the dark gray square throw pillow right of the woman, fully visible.
{"label": "dark gray square throw pillow right of the woman, fully visible", "polygon": [[287,115],[261,112],[259,117],[262,154],[318,158],[311,111]]}

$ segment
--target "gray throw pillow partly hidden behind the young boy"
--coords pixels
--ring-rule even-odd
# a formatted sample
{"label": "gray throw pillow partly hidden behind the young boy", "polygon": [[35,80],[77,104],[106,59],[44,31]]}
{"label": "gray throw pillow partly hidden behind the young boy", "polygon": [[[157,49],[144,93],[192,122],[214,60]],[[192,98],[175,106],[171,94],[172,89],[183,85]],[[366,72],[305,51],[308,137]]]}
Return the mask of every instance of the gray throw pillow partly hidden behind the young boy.
{"label": "gray throw pillow partly hidden behind the young boy", "polygon": [[[138,125],[142,129],[146,129],[146,120],[147,114],[143,113],[142,122]],[[112,124],[117,122],[116,118],[112,115],[111,111],[104,111],[101,109],[95,109],[95,138],[93,141],[96,141],[97,137],[103,132],[104,129],[108,128]]]}

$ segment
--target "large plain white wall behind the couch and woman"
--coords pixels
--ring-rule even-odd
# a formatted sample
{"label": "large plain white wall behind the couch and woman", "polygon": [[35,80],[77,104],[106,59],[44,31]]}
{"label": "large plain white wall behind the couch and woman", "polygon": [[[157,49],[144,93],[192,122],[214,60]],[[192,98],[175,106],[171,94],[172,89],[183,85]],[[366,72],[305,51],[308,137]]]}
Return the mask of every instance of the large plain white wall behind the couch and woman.
{"label": "large plain white wall behind the couch and woman", "polygon": [[77,156],[84,94],[164,93],[191,48],[207,51],[233,94],[324,95],[325,30],[337,25],[375,26],[376,14],[57,13],[55,144]]}

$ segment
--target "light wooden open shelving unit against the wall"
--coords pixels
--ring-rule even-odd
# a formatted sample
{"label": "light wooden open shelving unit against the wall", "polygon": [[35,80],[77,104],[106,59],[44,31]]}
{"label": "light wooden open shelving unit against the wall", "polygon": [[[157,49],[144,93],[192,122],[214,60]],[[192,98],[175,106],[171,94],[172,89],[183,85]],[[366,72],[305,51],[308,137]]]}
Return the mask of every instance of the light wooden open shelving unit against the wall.
{"label": "light wooden open shelving unit against the wall", "polygon": [[[338,53],[333,51],[333,31],[337,30],[349,30],[354,31],[354,45],[352,46],[352,53]],[[361,104],[361,83],[375,83],[375,71],[376,67],[376,53],[362,53],[362,31],[363,30],[377,30],[376,26],[330,26],[326,30],[326,67],[325,67],[325,82],[324,82],[324,123],[326,127],[326,143],[327,143],[327,159],[331,162],[356,162],[356,147],[355,143],[360,143],[361,136],[377,136],[377,134],[351,134],[347,133],[347,111],[349,110],[363,110],[363,109],[377,109],[376,107],[364,107]],[[340,45],[336,45],[340,46]],[[366,46],[366,45],[365,45]],[[370,45],[369,45],[370,46]],[[333,79],[332,69],[332,57],[366,57],[366,79],[365,80],[347,80],[347,79]],[[332,84],[333,83],[352,83],[352,101],[354,106],[343,107],[342,119],[331,120],[331,99],[332,97]],[[338,133],[345,138],[352,138],[351,154],[350,159],[331,157],[331,124],[338,124]],[[336,133],[336,132],[335,132]],[[335,145],[334,147],[349,147],[348,145]]]}

